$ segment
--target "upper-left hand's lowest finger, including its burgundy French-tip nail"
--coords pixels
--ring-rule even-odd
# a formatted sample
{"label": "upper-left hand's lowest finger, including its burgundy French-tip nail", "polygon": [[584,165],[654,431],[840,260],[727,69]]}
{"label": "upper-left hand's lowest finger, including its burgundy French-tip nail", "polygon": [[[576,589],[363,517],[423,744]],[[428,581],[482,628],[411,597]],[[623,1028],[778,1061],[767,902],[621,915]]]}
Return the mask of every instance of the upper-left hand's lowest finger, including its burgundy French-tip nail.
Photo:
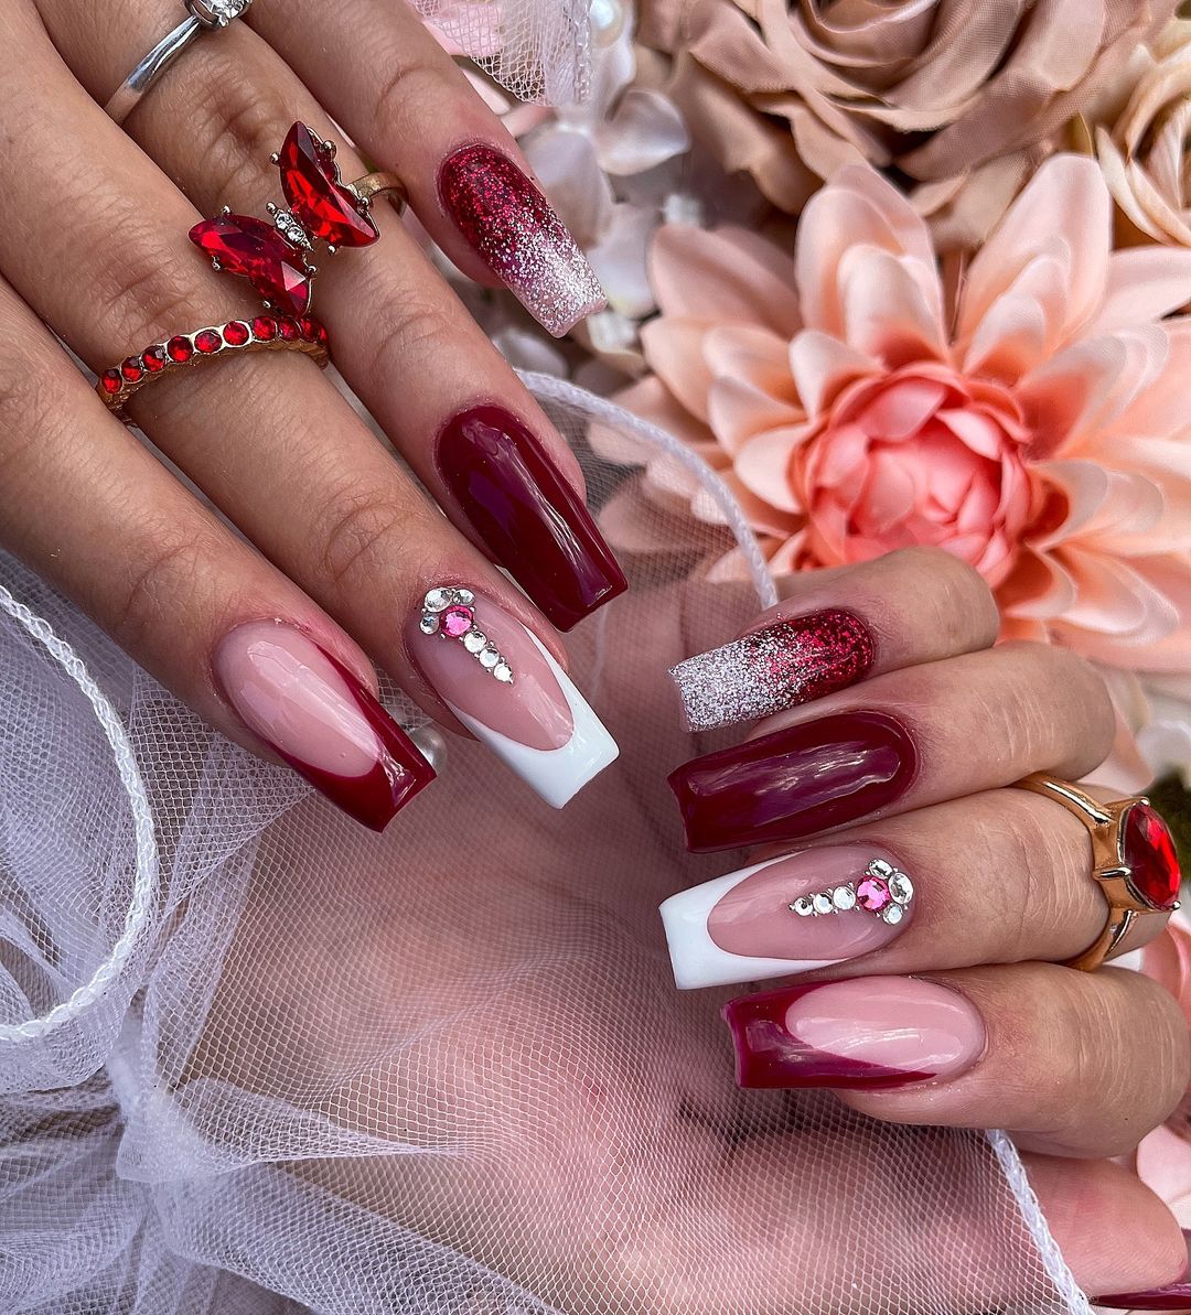
{"label": "upper-left hand's lowest finger, including its burgundy French-tip nail", "polygon": [[0,542],[212,726],[382,830],[434,773],[359,648],[109,416],[0,280]]}

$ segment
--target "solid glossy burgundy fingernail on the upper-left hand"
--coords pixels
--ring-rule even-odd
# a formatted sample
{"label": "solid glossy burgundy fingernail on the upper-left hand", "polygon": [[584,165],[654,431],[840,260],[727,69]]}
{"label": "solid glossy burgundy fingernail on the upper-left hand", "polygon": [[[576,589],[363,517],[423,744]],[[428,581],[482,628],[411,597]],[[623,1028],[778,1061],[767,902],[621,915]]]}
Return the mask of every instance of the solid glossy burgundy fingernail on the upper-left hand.
{"label": "solid glossy burgundy fingernail on the upper-left hand", "polygon": [[570,480],[500,406],[474,406],[438,435],[438,473],[492,556],[559,630],[628,581]]}

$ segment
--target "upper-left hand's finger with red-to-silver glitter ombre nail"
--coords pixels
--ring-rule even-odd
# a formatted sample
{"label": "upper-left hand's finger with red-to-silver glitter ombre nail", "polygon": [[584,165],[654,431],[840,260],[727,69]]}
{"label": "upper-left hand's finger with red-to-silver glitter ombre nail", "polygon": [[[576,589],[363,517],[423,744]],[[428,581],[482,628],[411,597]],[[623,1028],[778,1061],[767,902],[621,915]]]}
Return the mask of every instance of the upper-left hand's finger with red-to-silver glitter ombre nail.
{"label": "upper-left hand's finger with red-to-silver glitter ombre nail", "polygon": [[604,305],[574,238],[462,70],[401,0],[258,0],[253,26],[409,188],[461,268],[491,271],[551,334]]}

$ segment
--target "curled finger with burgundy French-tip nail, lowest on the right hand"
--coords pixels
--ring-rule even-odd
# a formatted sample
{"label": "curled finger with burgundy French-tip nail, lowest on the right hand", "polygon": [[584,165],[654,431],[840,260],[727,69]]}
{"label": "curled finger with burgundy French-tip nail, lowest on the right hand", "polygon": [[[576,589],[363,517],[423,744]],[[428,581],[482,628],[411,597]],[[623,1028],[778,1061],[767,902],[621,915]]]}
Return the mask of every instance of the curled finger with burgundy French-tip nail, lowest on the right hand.
{"label": "curled finger with burgundy French-tip nail, lowest on the right hand", "polygon": [[745,995],[725,1016],[742,1086],[830,1086],[874,1118],[1004,1127],[1048,1155],[1132,1151],[1191,1077],[1174,998],[1119,968],[859,977]]}

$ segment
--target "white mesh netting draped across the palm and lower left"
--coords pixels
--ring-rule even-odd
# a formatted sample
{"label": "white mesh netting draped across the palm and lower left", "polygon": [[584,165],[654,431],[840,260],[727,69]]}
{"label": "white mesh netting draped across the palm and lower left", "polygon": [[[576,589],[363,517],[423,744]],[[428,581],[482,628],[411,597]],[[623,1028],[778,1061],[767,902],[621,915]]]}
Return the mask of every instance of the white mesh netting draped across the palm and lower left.
{"label": "white mesh netting draped across the palm and lower left", "polygon": [[[537,383],[580,450],[663,442]],[[683,851],[666,773],[722,738],[665,671],[759,600],[692,564],[629,554],[571,636],[622,757],[565,811],[451,740],[374,836],[0,559],[95,680],[0,596],[0,1311],[1080,1308],[1007,1143],[740,1091],[730,992],[675,992],[657,905],[741,856]]]}

